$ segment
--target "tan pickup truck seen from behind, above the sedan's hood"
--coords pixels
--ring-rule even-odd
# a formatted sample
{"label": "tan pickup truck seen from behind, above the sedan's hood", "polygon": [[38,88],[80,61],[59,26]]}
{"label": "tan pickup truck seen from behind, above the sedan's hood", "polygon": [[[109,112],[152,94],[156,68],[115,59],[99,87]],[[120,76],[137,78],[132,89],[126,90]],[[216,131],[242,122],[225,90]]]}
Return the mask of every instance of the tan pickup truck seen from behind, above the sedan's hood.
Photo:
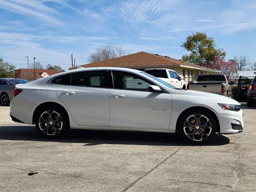
{"label": "tan pickup truck seen from behind, above the sedan's hood", "polygon": [[215,93],[232,98],[231,86],[224,74],[200,74],[196,81],[189,81],[187,89]]}

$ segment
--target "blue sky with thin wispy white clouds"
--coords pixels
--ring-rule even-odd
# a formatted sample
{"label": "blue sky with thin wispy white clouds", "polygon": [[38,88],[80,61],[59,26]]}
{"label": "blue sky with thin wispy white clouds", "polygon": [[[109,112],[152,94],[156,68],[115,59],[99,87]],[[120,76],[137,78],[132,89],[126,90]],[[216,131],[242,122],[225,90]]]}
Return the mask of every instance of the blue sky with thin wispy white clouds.
{"label": "blue sky with thin wispy white clouds", "polygon": [[68,70],[105,44],[180,59],[195,32],[253,63],[256,0],[0,0],[0,57],[17,69],[28,56]]}

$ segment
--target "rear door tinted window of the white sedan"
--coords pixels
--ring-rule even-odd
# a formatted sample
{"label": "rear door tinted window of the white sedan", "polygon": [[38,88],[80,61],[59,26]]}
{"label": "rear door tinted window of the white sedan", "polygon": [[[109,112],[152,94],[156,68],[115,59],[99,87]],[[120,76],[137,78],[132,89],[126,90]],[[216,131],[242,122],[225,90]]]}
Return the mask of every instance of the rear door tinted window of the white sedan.
{"label": "rear door tinted window of the white sedan", "polygon": [[108,87],[107,71],[87,71],[72,73],[71,85],[86,87]]}

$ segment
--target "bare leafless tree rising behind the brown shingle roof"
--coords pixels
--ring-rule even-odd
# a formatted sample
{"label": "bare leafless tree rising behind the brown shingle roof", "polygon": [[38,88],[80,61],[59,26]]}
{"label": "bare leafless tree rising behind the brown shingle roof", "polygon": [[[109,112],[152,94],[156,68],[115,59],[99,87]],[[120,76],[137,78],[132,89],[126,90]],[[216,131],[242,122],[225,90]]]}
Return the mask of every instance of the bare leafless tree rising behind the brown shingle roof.
{"label": "bare leafless tree rising behind the brown shingle roof", "polygon": [[112,59],[120,56],[130,54],[127,50],[122,47],[112,46],[111,44],[104,45],[100,48],[96,48],[96,51],[90,54],[88,57],[88,62],[98,62],[107,59]]}

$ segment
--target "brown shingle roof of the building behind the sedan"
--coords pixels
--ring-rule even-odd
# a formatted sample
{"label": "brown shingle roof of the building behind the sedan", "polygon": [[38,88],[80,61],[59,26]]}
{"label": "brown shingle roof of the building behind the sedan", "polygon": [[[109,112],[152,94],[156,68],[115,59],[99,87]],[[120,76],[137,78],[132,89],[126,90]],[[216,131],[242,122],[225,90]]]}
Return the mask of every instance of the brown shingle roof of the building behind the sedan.
{"label": "brown shingle roof of the building behind the sedan", "polygon": [[138,52],[122,57],[117,57],[113,59],[108,59],[104,61],[94,62],[90,64],[81,65],[81,67],[127,67],[127,68],[138,68],[143,66],[176,66],[176,65],[184,65],[191,66],[196,68],[206,68],[203,66],[199,66],[196,64],[184,62],[182,60],[168,58],[161,55],[156,55],[147,52]]}

